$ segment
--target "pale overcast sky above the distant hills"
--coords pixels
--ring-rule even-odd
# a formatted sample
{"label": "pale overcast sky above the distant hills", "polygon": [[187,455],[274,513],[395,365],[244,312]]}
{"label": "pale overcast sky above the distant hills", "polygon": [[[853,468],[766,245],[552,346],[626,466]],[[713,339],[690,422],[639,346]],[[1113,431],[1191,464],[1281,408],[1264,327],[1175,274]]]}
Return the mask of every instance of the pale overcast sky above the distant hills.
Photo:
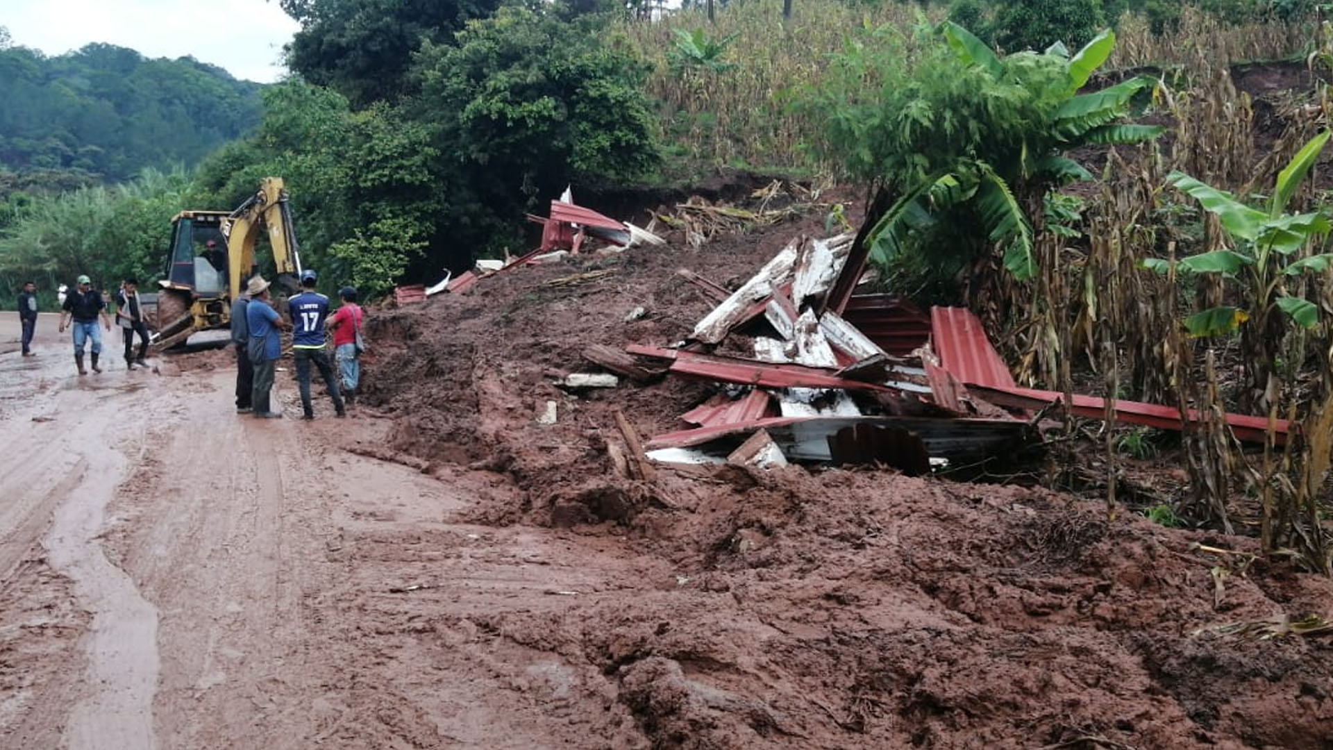
{"label": "pale overcast sky above the distant hills", "polygon": [[277,0],[0,0],[13,44],[60,55],[91,41],[145,57],[184,57],[239,79],[277,80],[283,44],[300,28]]}

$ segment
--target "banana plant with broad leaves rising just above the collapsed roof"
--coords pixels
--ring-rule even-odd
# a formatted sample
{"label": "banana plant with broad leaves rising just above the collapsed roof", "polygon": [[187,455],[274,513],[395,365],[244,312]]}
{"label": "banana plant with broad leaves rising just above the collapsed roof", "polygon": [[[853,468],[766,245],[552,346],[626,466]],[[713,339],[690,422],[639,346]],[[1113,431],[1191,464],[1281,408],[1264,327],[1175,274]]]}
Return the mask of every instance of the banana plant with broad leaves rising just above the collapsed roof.
{"label": "banana plant with broad leaves rising just above the collapsed roof", "polygon": [[[990,47],[965,28],[945,21],[938,33],[958,60],[984,71],[994,81],[1018,85],[1049,85],[1022,79],[1025,55],[1001,59]],[[929,231],[953,211],[968,211],[984,227],[986,240],[1004,251],[1004,267],[1018,280],[1037,274],[1034,236],[1028,210],[1040,208],[1041,196],[1054,187],[1092,179],[1065,151],[1088,144],[1137,144],[1161,135],[1158,125],[1124,123],[1134,97],[1154,85],[1148,77],[1134,77],[1092,93],[1078,93],[1110,56],[1116,35],[1106,29],[1076,55],[1054,44],[1042,55],[1064,67],[1064,77],[1052,88],[1034,92],[1049,97],[1049,121],[1036,123],[1021,148],[998,153],[996,159],[960,155],[942,171],[909,188],[866,235],[870,258],[888,263],[906,247],[929,236]]]}

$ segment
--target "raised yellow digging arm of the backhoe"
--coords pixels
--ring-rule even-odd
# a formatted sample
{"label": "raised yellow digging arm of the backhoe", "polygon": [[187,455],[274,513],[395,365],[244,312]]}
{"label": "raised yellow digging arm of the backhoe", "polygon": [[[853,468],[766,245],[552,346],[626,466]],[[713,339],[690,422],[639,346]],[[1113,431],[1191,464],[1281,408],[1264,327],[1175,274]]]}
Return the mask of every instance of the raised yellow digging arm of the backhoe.
{"label": "raised yellow digging arm of the backhoe", "polygon": [[227,292],[228,299],[245,291],[245,280],[255,270],[255,240],[268,232],[273,248],[277,282],[289,291],[297,288],[301,272],[300,247],[292,231],[292,212],[288,207],[283,177],[264,177],[259,191],[223,220],[227,238]]}

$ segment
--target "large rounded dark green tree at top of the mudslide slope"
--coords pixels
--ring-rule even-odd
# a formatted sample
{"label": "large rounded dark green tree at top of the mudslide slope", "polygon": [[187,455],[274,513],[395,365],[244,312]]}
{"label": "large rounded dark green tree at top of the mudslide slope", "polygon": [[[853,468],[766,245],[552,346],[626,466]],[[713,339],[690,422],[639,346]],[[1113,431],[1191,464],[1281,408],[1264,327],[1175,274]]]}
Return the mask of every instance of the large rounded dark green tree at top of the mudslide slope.
{"label": "large rounded dark green tree at top of the mudslide slope", "polygon": [[423,48],[412,119],[435,129],[455,264],[512,247],[523,212],[571,181],[623,181],[657,164],[644,65],[591,28],[507,7],[455,47]]}

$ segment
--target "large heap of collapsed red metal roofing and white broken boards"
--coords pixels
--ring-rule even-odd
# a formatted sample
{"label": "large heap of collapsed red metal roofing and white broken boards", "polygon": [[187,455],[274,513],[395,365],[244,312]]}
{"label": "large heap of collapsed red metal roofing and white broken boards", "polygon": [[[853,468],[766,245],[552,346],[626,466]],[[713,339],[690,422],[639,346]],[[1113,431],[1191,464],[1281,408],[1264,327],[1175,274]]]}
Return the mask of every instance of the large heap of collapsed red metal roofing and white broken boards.
{"label": "large heap of collapsed red metal roofing and white broken boards", "polygon": [[[647,440],[653,459],[736,463],[738,456],[774,466],[776,450],[782,460],[966,471],[1040,455],[1032,412],[1062,400],[1020,388],[970,311],[934,307],[926,316],[897,296],[858,294],[868,274],[850,235],[800,236],[730,292],[688,270],[678,274],[717,306],[688,340],[670,348],[631,344],[625,352],[666,363],[669,375],[726,386],[681,415],[681,430]],[[741,331],[753,358],[712,354]],[[621,374],[660,372],[605,352],[599,359]],[[1117,422],[1181,426],[1172,407],[1113,406]],[[1100,419],[1105,402],[1076,395],[1072,411]],[[1265,419],[1226,419],[1240,439],[1262,439]],[[1277,427],[1285,436],[1286,423]]]}

